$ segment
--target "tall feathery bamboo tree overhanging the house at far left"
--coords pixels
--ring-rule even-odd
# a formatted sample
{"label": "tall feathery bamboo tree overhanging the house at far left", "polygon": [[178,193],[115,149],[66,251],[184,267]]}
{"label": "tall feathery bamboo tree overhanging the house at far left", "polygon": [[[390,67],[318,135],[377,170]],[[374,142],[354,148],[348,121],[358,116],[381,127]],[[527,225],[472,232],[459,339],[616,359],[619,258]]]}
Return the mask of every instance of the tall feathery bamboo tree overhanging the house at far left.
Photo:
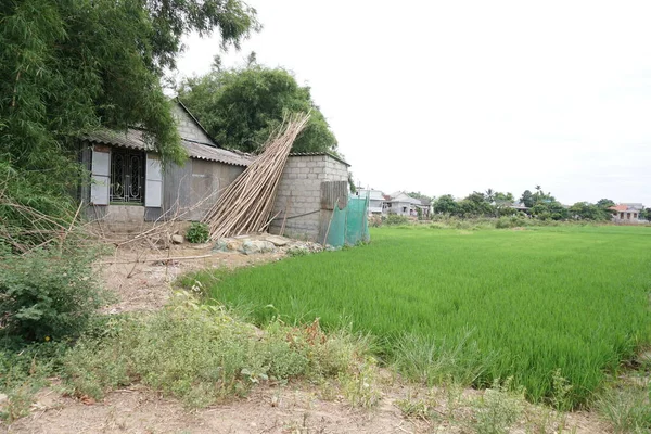
{"label": "tall feathery bamboo tree overhanging the house at far left", "polygon": [[217,30],[238,47],[258,28],[239,0],[0,2],[0,192],[48,214],[73,206],[77,140],[100,127],[142,127],[182,162],[161,84],[181,36]]}

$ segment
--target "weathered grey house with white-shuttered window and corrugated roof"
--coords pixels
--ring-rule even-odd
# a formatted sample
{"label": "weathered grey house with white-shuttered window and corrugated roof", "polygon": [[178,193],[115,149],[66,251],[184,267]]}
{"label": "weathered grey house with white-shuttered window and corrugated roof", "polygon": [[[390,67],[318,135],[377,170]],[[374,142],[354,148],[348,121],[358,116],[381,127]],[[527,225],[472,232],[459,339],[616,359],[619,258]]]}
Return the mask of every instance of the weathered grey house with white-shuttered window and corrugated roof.
{"label": "weathered grey house with white-shuttered window and corrugated roof", "polygon": [[82,138],[81,161],[93,182],[82,187],[79,195],[89,204],[91,220],[108,227],[171,217],[200,220],[253,161],[248,154],[220,149],[181,102],[177,101],[174,114],[189,156],[182,166],[163,167],[144,131],[137,128]]}

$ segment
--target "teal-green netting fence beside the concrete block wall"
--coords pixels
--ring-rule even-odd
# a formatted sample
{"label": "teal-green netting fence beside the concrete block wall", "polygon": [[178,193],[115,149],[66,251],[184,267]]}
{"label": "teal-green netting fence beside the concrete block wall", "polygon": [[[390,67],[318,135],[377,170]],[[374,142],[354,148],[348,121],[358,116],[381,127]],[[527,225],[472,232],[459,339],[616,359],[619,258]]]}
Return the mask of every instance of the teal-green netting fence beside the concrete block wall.
{"label": "teal-green netting fence beside the concrete block wall", "polygon": [[334,206],[327,243],[333,247],[371,241],[369,233],[369,197],[350,197],[348,205]]}

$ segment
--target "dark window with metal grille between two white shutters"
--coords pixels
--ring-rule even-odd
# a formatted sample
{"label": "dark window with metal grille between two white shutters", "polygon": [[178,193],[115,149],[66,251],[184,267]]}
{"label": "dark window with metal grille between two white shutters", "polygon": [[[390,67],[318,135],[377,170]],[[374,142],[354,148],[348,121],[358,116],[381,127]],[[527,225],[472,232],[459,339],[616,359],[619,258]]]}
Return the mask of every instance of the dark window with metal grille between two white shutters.
{"label": "dark window with metal grille between two white shutters", "polygon": [[111,151],[111,202],[144,202],[144,152]]}

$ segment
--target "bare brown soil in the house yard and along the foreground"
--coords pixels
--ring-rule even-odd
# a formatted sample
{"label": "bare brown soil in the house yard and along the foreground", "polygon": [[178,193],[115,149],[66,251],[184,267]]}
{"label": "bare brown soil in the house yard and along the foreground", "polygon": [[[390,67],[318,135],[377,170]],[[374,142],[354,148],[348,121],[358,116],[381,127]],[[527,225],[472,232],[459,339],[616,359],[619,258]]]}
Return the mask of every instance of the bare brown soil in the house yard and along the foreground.
{"label": "bare brown soil in the house yard and along the foreground", "polygon": [[[107,289],[117,302],[106,312],[154,310],[171,295],[171,282],[180,275],[203,268],[238,268],[279,260],[283,252],[244,255],[212,253],[212,245],[182,244],[169,251],[118,250],[98,266]],[[197,257],[199,256],[199,257]],[[386,376],[391,376],[387,374]],[[373,409],[353,408],[341,391],[308,383],[260,385],[246,398],[233,399],[203,410],[190,411],[174,398],[136,385],[112,392],[101,403],[62,395],[58,380],[40,391],[30,416],[11,425],[0,421],[0,433],[472,433],[463,422],[471,410],[456,409],[450,418],[423,420],[406,418],[397,403],[407,396],[426,395],[424,387],[399,381],[382,384],[383,398]],[[467,390],[462,396],[481,392]],[[328,396],[326,396],[328,395]],[[434,414],[449,413],[442,392]],[[454,419],[454,418],[452,418]],[[513,429],[525,433],[526,421]],[[566,416],[566,432],[609,433],[609,426],[593,413]],[[575,431],[572,431],[575,430]],[[553,432],[553,431],[550,431]]]}

